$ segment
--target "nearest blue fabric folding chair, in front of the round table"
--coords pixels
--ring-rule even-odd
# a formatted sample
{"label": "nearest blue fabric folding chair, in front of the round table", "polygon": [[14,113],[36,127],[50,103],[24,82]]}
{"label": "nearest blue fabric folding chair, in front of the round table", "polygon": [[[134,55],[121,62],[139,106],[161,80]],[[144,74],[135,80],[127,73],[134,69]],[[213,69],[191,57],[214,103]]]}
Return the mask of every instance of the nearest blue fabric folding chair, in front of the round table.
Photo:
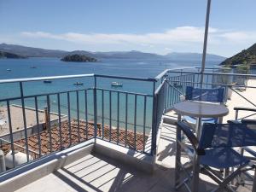
{"label": "nearest blue fabric folding chair, in front of the round table", "polygon": [[[188,137],[192,147],[188,147],[193,163],[191,177],[181,181],[180,172],[185,168],[181,164],[181,131]],[[218,183],[214,191],[234,191],[229,183],[242,172],[255,170],[255,165],[243,155],[234,150],[235,147],[256,146],[256,126],[247,124],[204,124],[200,140],[195,137],[189,125],[177,123],[177,154],[176,154],[176,189],[192,180],[192,192],[199,189],[199,174],[204,173]],[[187,150],[188,151],[188,150]],[[223,177],[215,169],[229,171],[236,167],[236,171]],[[256,172],[256,171],[255,171]],[[253,191],[256,191],[256,178],[253,182]]]}

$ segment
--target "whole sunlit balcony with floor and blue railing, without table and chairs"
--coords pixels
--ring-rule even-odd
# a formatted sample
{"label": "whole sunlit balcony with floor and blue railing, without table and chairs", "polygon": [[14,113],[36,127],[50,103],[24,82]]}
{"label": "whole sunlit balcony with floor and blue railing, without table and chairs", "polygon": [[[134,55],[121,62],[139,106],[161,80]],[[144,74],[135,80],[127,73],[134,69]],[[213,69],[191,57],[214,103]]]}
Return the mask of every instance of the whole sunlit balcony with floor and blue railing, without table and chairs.
{"label": "whole sunlit balcony with floor and blue railing, without table and chairs", "polygon": [[[172,107],[186,86],[224,87],[226,122],[236,118],[234,107],[255,108],[255,77],[183,68],[154,79],[82,74],[1,80],[8,84],[0,100],[1,191],[175,191]],[[45,80],[51,83],[34,89]],[[111,87],[113,81],[124,87]],[[62,87],[63,82],[83,85]],[[237,119],[253,114],[239,113]],[[211,191],[216,183],[203,176],[200,185]],[[250,191],[251,185],[248,181],[238,191]]]}

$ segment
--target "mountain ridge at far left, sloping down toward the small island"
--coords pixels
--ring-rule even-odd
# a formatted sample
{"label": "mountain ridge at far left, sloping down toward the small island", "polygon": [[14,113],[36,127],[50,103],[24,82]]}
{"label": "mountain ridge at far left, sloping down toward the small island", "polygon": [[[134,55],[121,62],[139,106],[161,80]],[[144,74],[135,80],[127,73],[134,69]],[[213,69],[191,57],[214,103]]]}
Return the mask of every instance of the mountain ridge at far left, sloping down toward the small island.
{"label": "mountain ridge at far left, sloping down toward the small island", "polygon": [[68,54],[65,50],[40,49],[15,44],[0,44],[0,51],[28,57],[62,57]]}

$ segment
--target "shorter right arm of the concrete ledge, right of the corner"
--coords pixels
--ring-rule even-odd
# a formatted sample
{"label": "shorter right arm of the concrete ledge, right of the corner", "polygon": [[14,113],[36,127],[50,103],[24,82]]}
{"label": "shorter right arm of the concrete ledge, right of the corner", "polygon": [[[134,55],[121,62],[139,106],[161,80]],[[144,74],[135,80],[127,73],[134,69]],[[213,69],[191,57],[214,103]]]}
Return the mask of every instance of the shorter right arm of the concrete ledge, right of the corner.
{"label": "shorter right arm of the concrete ledge, right of the corner", "polygon": [[126,166],[132,166],[143,172],[153,173],[154,171],[154,157],[138,153],[133,149],[125,148],[114,143],[96,139],[93,152],[103,154]]}

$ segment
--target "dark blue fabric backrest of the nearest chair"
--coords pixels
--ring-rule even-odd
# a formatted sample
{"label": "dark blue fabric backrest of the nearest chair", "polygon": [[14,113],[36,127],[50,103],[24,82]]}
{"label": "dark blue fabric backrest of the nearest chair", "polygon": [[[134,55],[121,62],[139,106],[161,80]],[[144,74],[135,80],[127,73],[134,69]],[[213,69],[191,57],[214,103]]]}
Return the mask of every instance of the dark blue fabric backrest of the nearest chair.
{"label": "dark blue fabric backrest of the nearest chair", "polygon": [[256,146],[256,125],[207,124],[202,127],[199,148]]}

